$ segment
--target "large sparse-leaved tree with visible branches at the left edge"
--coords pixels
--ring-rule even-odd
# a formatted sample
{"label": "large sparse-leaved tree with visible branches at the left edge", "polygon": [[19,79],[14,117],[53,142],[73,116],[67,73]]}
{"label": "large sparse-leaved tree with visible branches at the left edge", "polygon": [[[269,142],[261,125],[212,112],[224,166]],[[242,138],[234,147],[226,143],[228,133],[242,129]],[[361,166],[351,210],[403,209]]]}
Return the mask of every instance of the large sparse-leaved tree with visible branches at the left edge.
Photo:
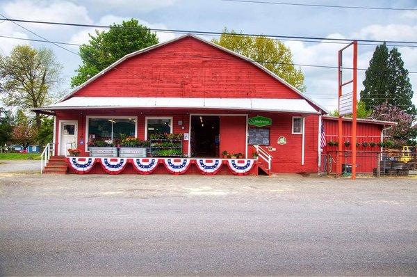
{"label": "large sparse-leaved tree with visible branches at the left edge", "polygon": [[[0,57],[0,93],[6,106],[28,110],[49,104],[51,90],[60,83],[62,66],[50,49],[18,45],[10,56]],[[42,115],[35,115],[40,128]]]}

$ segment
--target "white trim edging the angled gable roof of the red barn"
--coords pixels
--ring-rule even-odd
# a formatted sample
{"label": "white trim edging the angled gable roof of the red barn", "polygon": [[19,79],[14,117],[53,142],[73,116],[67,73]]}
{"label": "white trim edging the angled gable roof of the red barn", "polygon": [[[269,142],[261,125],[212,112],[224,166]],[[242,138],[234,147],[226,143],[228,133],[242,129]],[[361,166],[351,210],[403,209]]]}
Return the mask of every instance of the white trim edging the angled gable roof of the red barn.
{"label": "white trim edging the angled gable roof of the red barn", "polygon": [[[204,42],[208,45],[211,45],[213,47],[216,47],[224,52],[227,52],[231,55],[237,56],[239,58],[242,58],[245,61],[249,61],[250,63],[253,63],[256,67],[260,68],[261,70],[263,70],[264,72],[266,72],[267,74],[269,74],[271,77],[277,79],[278,81],[280,81],[282,84],[284,84],[285,86],[287,86],[288,88],[291,88],[291,90],[293,90],[295,93],[297,93],[298,95],[300,95],[302,98],[304,98],[305,100],[313,103],[314,105],[318,106],[318,108],[320,108],[322,111],[324,111],[325,113],[328,113],[327,109],[325,109],[325,107],[321,106],[320,104],[318,104],[317,102],[311,100],[310,97],[307,97],[304,93],[302,93],[300,90],[298,90],[297,88],[295,88],[294,86],[292,86],[291,84],[288,84],[284,79],[281,79],[280,77],[278,77],[276,74],[274,74],[273,72],[271,72],[270,70],[268,70],[267,68],[263,67],[263,65],[257,63],[256,61],[254,61],[252,58],[248,58],[247,56],[243,56],[241,54],[238,54],[236,52],[231,51],[230,49],[227,49],[225,47],[222,47],[220,45],[216,45],[215,43],[208,41],[208,40],[204,40],[203,38],[199,38],[197,35],[192,35],[192,34],[187,34],[187,35],[181,35],[178,38],[174,38],[172,40],[167,40],[165,42],[160,42],[156,45],[152,45],[149,46],[147,48],[138,50],[136,52],[132,52],[131,54],[126,54],[126,56],[124,56],[123,58],[120,58],[118,61],[115,61],[115,63],[112,63],[111,65],[109,65],[107,68],[105,68],[104,70],[101,70],[101,72],[97,73],[94,77],[88,79],[87,81],[85,81],[83,84],[81,84],[80,86],[77,86],[76,88],[74,88],[74,90],[72,90],[71,93],[65,95],[63,98],[61,98],[60,100],[58,100],[58,102],[61,102],[63,100],[67,100],[69,97],[71,97],[72,95],[74,95],[74,93],[76,93],[77,91],[79,91],[81,88],[87,86],[88,84],[90,84],[92,81],[94,81],[95,79],[101,77],[101,75],[105,74],[106,72],[108,72],[109,70],[111,70],[112,68],[114,68],[116,65],[119,65],[120,63],[122,63],[123,61],[125,61],[128,58],[131,58],[132,56],[136,56],[138,54],[142,54],[145,52],[148,52],[152,49],[158,48],[158,47],[162,47],[163,45],[167,45],[170,44],[171,42],[175,42],[177,40],[181,40],[182,38],[185,37],[193,37],[201,42]],[[57,102],[57,103],[58,103]]]}

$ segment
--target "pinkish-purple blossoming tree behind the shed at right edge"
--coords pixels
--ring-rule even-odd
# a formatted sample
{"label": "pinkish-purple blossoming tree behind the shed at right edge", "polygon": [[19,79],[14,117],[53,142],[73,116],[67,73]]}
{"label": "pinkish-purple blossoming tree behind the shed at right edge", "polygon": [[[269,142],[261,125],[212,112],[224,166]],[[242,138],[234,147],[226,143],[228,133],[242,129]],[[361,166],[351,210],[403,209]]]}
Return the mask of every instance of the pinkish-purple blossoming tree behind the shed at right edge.
{"label": "pinkish-purple blossoming tree behind the shed at right edge", "polygon": [[398,125],[386,131],[386,134],[391,136],[396,145],[404,145],[416,139],[417,125],[414,124],[414,117],[400,109],[400,107],[385,102],[375,106],[372,117],[378,120],[398,123]]}

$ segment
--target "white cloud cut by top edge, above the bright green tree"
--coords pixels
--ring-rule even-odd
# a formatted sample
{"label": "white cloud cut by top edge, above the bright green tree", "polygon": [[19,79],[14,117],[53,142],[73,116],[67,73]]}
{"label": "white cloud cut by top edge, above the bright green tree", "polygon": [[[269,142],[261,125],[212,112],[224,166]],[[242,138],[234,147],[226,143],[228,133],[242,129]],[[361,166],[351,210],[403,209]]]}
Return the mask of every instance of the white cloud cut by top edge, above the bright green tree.
{"label": "white cloud cut by top edge, above the bright green tree", "polygon": [[[177,0],[90,0],[96,10],[120,13],[148,13],[152,10],[172,6]],[[77,0],[85,3],[83,0]]]}

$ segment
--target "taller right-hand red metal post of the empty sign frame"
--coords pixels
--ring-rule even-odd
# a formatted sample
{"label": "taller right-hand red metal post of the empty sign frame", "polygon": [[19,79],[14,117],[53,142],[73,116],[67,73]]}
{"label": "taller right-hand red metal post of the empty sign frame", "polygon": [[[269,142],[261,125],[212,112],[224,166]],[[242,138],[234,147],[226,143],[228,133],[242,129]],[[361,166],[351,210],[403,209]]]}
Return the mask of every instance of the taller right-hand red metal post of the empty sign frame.
{"label": "taller right-hand red metal post of the empty sign frame", "polygon": [[358,42],[353,42],[352,180],[356,179]]}

